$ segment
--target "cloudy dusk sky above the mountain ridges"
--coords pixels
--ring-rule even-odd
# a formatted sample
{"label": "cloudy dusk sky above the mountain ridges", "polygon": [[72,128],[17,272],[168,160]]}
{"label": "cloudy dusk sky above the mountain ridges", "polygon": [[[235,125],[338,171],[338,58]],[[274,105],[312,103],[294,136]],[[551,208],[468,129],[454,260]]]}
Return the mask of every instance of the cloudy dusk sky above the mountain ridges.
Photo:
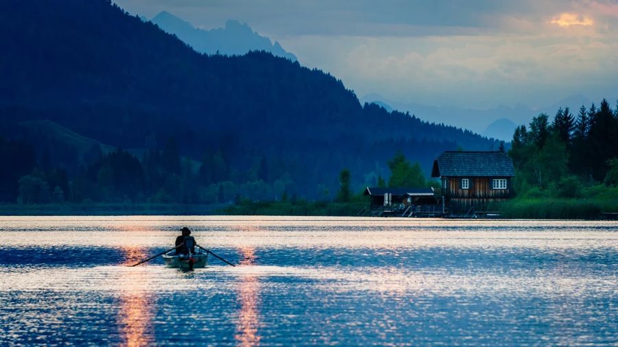
{"label": "cloudy dusk sky above the mountain ridges", "polygon": [[358,97],[475,109],[618,98],[618,0],[115,3],[148,18],[166,10],[203,29],[247,23]]}

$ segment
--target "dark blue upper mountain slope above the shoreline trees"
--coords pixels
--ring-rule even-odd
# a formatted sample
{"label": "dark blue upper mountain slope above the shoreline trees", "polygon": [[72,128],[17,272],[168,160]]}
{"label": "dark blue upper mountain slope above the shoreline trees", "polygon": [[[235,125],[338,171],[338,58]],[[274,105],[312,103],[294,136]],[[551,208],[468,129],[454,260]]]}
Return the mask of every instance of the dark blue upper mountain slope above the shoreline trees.
{"label": "dark blue upper mountain slope above the shoreline trees", "polygon": [[109,1],[3,1],[0,37],[3,119],[48,119],[144,151],[174,140],[182,156],[220,157],[227,174],[218,181],[254,180],[257,162],[269,168],[266,183],[284,180],[313,197],[318,187],[336,191],[345,167],[356,186],[388,176],[397,150],[428,171],[446,149],[498,147],[472,132],[363,106],[332,75],[271,53],[197,53]]}

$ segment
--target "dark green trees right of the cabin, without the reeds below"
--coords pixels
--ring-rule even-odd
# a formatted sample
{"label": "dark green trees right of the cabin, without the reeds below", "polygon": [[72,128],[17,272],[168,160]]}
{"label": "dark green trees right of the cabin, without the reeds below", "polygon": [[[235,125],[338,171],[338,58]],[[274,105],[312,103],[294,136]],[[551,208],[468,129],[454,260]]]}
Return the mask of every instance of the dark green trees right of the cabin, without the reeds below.
{"label": "dark green trees right of the cabin, without the reeds below", "polygon": [[520,196],[577,198],[582,189],[618,184],[618,103],[559,108],[516,128],[510,157]]}

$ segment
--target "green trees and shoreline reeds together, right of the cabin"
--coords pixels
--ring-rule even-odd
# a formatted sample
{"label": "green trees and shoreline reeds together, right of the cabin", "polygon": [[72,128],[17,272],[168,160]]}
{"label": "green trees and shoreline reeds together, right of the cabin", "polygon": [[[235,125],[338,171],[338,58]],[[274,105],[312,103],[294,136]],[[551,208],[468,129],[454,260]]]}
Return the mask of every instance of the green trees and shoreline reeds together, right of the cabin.
{"label": "green trees and shoreline reeds together, right of the cabin", "polygon": [[618,102],[560,108],[516,128],[510,151],[517,198],[511,217],[593,218],[618,211]]}

